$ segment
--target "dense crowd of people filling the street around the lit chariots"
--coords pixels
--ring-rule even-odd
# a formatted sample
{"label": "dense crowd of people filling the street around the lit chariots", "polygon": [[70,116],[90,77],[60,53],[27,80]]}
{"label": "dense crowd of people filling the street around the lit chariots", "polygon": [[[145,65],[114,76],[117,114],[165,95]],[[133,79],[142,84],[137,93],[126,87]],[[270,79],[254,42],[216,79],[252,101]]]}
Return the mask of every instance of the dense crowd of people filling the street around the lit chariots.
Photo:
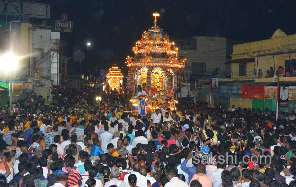
{"label": "dense crowd of people filling the street around the lit chariots", "polygon": [[0,187],[296,186],[294,111],[166,100],[139,115],[123,94],[52,94],[1,108]]}

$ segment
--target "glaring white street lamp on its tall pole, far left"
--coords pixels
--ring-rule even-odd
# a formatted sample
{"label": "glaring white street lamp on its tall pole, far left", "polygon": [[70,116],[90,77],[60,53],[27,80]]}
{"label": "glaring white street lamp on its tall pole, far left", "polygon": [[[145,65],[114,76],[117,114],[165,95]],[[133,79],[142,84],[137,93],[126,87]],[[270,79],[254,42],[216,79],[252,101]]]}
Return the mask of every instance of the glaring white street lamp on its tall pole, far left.
{"label": "glaring white street lamp on its tall pole, far left", "polygon": [[6,72],[10,72],[10,82],[9,82],[9,112],[12,113],[12,71],[17,70],[18,61],[20,58],[14,55],[12,52],[8,52],[0,56],[0,65],[2,69]]}

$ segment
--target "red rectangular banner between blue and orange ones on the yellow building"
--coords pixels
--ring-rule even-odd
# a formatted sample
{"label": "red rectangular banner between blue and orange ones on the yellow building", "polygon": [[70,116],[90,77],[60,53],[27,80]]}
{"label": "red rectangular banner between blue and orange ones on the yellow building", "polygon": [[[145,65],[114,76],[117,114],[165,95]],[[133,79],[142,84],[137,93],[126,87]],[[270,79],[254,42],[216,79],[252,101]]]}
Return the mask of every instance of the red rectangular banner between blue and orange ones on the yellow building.
{"label": "red rectangular banner between blue and orange ones on the yellow building", "polygon": [[241,98],[264,99],[264,86],[241,86]]}

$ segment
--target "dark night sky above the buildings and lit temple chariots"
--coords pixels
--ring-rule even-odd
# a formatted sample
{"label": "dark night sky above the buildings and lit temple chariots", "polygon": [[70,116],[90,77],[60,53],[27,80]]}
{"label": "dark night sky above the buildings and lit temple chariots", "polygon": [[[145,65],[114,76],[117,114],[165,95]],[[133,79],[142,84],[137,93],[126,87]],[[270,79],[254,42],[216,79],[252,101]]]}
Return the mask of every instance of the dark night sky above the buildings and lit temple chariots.
{"label": "dark night sky above the buildings and lit temple chariots", "polygon": [[[113,63],[124,67],[125,58],[143,31],[153,25],[153,12],[159,12],[158,25],[170,38],[223,36],[256,41],[269,39],[277,28],[296,34],[296,1],[186,1],[186,0],[52,0],[53,19],[61,13],[73,21],[73,33],[63,33],[71,56],[70,74],[80,74],[75,50],[85,53],[84,74],[108,70]],[[92,46],[86,50],[86,42]],[[75,55],[74,55],[75,56]],[[77,59],[77,58],[75,58]]]}

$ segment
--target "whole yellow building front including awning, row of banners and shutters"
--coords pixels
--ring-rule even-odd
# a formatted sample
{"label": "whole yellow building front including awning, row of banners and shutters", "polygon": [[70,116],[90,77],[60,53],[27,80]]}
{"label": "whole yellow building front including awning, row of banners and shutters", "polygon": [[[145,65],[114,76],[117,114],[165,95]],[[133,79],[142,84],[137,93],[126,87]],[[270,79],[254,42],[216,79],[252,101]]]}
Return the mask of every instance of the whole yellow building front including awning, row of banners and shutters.
{"label": "whole yellow building front including awning, row of banners and shutters", "polygon": [[[287,102],[279,111],[290,112],[296,108],[296,34],[287,35],[277,29],[270,39],[233,46],[231,78],[220,78],[218,104],[236,108],[269,108],[276,110],[279,76],[280,89],[285,87]],[[206,93],[204,93],[206,95]],[[289,97],[289,99],[288,99]],[[217,98],[217,99],[216,99]],[[223,99],[222,99],[223,98]]]}

